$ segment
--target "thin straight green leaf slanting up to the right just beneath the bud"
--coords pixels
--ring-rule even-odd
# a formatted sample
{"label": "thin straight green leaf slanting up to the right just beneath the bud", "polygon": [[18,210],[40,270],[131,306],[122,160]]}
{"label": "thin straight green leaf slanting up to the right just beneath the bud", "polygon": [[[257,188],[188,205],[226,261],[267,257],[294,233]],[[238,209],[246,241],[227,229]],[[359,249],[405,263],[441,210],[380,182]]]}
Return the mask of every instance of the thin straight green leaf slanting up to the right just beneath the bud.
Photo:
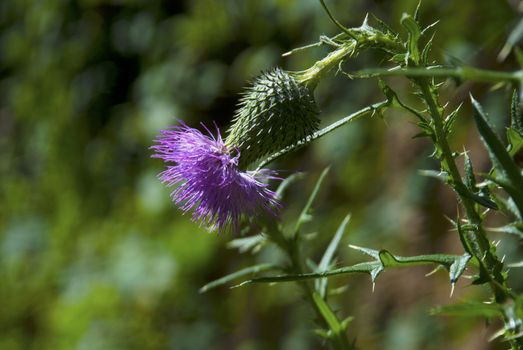
{"label": "thin straight green leaf slanting up to the right just beneath the bud", "polygon": [[382,109],[383,107],[388,106],[389,104],[390,104],[389,101],[381,101],[378,103],[374,103],[370,106],[367,106],[365,108],[362,108],[359,111],[354,112],[354,113],[346,116],[345,118],[342,118],[342,119],[338,120],[337,122],[332,123],[329,126],[323,128],[321,130],[316,131],[314,134],[301,139],[300,141],[296,142],[295,144],[287,146],[287,147],[281,149],[280,151],[270,155],[269,157],[267,157],[266,159],[261,161],[261,163],[258,165],[256,170],[260,170],[261,168],[264,168],[269,163],[283,157],[284,155],[294,152],[294,151],[308,145],[312,141],[317,140],[320,137],[323,137],[323,136],[333,132],[334,130],[338,129],[339,127],[341,127],[345,124],[348,124],[350,122],[353,122],[354,120],[357,120],[370,112],[378,111],[378,110]]}

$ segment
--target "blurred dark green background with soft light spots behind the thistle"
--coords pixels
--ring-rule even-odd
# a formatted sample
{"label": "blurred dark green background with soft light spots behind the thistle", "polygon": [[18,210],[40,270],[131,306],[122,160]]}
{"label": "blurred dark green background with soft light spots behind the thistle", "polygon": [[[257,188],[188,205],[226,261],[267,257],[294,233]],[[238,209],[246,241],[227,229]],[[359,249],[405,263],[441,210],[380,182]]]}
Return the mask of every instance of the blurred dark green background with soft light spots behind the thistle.
{"label": "blurred dark green background with soft light spots behind the thistle", "polygon": [[[401,31],[417,0],[328,1],[344,24],[372,13]],[[497,56],[518,23],[505,0],[423,1],[421,20],[436,26],[433,57],[491,69],[516,69]],[[300,70],[326,54],[282,53],[333,35],[315,0],[41,0],[0,2],[0,349],[320,349],[311,310],[292,284],[198,289],[221,275],[277,258],[271,249],[239,254],[230,234],[211,234],[182,216],[156,178],[157,131],[181,118],[197,126],[230,122],[238,94],[260,71]],[[382,64],[369,52],[348,71]],[[412,103],[403,79],[389,83]],[[325,79],[316,96],[325,125],[383,97],[374,80]],[[472,91],[500,130],[503,89],[447,83],[456,106]],[[488,169],[465,103],[452,143]],[[401,255],[461,253],[445,216],[453,193],[419,175],[435,169],[411,116],[389,111],[345,127],[275,168],[303,171],[285,199],[285,220],[331,166],[307,251],[321,257],[344,215],[353,220],[340,262],[366,259],[352,243]],[[502,237],[507,260],[519,243]],[[425,268],[338,277],[347,291],[332,301],[354,315],[349,334],[361,349],[497,349],[499,324],[430,316],[433,306],[488,291],[461,281],[449,298],[445,273]],[[512,286],[523,276],[512,273]]]}

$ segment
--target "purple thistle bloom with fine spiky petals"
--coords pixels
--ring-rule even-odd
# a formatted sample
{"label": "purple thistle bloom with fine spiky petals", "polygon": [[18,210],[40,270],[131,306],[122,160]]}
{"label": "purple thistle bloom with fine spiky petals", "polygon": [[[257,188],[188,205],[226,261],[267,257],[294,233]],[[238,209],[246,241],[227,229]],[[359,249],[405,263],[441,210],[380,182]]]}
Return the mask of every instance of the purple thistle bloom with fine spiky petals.
{"label": "purple thistle bloom with fine spiky petals", "polygon": [[240,171],[240,154],[225,145],[218,127],[216,138],[202,126],[208,135],[183,123],[161,130],[151,147],[152,157],[173,163],[159,178],[169,187],[179,185],[171,193],[174,203],[184,212],[194,210],[193,221],[220,231],[237,232],[241,218],[256,217],[260,209],[275,214],[276,194],[262,182],[274,179],[274,172]]}

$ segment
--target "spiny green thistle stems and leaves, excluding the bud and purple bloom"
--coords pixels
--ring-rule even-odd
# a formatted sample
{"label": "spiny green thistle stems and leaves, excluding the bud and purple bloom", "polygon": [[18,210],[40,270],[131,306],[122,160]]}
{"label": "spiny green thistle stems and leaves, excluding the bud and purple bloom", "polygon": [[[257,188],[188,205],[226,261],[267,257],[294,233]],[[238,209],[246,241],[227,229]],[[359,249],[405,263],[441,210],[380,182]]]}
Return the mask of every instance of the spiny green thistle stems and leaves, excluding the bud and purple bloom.
{"label": "spiny green thistle stems and leaves, excluding the bud and purple bloom", "polygon": [[[455,282],[465,269],[471,267],[475,271],[473,284],[488,285],[491,292],[490,299],[485,300],[486,303],[467,300],[461,304],[434,308],[433,313],[474,315],[487,319],[498,318],[504,326],[495,337],[501,337],[510,344],[511,349],[523,349],[523,296],[508,286],[508,279],[512,272],[504,264],[503,259],[498,257],[496,245],[489,238],[489,231],[505,232],[523,238],[523,175],[521,168],[514,161],[514,156],[523,147],[523,114],[520,110],[523,70],[498,72],[465,65],[448,66],[432,62],[429,54],[434,36],[434,34],[432,37],[430,36],[433,26],[421,27],[418,21],[419,7],[413,15],[403,15],[401,25],[407,35],[402,37],[378,19],[372,21],[375,23],[373,25],[365,18],[360,27],[345,28],[334,19],[324,1],[320,1],[320,3],[341,32],[330,38],[321,37],[316,44],[291,51],[290,53],[294,54],[303,49],[321,45],[333,48],[325,59],[318,61],[310,69],[293,74],[298,77],[298,81],[314,88],[329,71],[333,71],[333,67],[339,67],[338,71],[341,71],[341,63],[344,61],[364,50],[377,49],[383,52],[386,60],[393,65],[392,67],[343,72],[343,74],[350,79],[378,78],[378,84],[386,99],[342,118],[319,131],[309,128],[310,131],[305,137],[294,135],[290,140],[286,138],[285,144],[278,143],[279,150],[258,164],[258,169],[363,116],[380,114],[388,108],[402,109],[417,119],[417,125],[420,128],[417,136],[428,138],[434,146],[432,156],[438,160],[440,169],[424,171],[423,174],[436,177],[452,188],[456,200],[460,203],[461,210],[451,221],[459,235],[463,254],[404,257],[394,255],[388,250],[351,246],[370,256],[372,260],[350,266],[335,267],[335,252],[350,219],[350,216],[347,216],[333,235],[321,260],[318,263],[311,263],[311,259],[306,259],[302,255],[303,245],[308,242],[302,231],[302,225],[313,218],[310,210],[327,174],[327,170],[325,170],[294,225],[284,226],[267,219],[263,222],[261,235],[237,238],[230,243],[232,247],[239,248],[243,252],[257,252],[267,244],[275,244],[286,254],[286,263],[264,263],[252,266],[211,282],[202,287],[201,291],[205,292],[241,278],[247,278],[247,280],[238,286],[255,283],[296,282],[301,286],[305,299],[317,315],[316,334],[328,341],[334,349],[350,349],[355,346],[354,342],[347,337],[347,333],[351,334],[347,329],[352,318],[339,319],[336,312],[329,306],[327,283],[329,276],[366,273],[371,276],[374,283],[376,278],[387,269],[431,264],[448,271],[450,283],[454,288]],[[423,110],[401,101],[398,94],[385,82],[384,79],[387,76],[401,76],[408,79],[414,93],[419,96],[424,106]],[[511,125],[507,128],[507,144],[500,139],[490,125],[480,103],[472,96],[470,98],[477,130],[492,161],[492,168],[487,173],[475,172],[467,151],[457,152],[450,146],[449,138],[460,111],[459,108],[447,110],[445,104],[440,101],[440,79],[446,78],[502,84],[513,90],[510,108]],[[258,96],[258,98],[264,99],[263,96]],[[249,100],[249,103],[256,105],[256,101]],[[266,101],[259,101],[259,103],[263,105]],[[237,123],[246,123],[241,125],[246,127],[255,123],[254,120],[258,116],[259,113],[254,112],[250,115],[249,121],[237,119]],[[461,170],[457,162],[460,158],[464,163]],[[285,188],[297,177],[297,175],[293,175],[280,185],[277,191],[279,198]],[[481,183],[477,182],[479,178],[483,179]],[[493,215],[504,215],[510,218],[510,222],[498,228],[485,227],[486,215],[492,212]],[[251,277],[253,274],[262,272],[264,275],[261,277]],[[353,334],[350,338],[355,338],[355,336]]]}

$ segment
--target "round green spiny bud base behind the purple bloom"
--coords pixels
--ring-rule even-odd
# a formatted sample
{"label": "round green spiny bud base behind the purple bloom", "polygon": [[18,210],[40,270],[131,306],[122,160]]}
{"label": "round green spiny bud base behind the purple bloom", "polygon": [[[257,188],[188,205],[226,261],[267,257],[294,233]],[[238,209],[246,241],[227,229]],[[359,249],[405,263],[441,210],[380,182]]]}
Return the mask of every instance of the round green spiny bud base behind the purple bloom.
{"label": "round green spiny bud base behind the purple bloom", "polygon": [[241,168],[314,133],[319,126],[312,90],[294,73],[275,68],[244,93],[226,144],[240,151]]}

